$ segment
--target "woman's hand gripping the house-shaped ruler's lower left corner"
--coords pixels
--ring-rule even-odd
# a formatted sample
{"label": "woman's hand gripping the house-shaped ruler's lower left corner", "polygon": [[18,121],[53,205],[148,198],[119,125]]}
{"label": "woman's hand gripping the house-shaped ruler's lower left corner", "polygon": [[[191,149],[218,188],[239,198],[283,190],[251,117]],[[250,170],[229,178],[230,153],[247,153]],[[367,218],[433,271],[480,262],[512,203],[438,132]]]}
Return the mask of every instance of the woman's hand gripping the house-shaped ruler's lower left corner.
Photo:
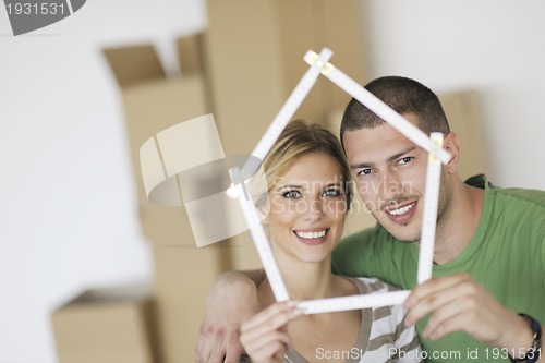
{"label": "woman's hand gripping the house-shaped ruler's lower left corner", "polygon": [[270,305],[244,323],[240,340],[252,362],[283,362],[283,354],[291,349],[286,332],[288,323],[302,315],[294,302],[284,301]]}

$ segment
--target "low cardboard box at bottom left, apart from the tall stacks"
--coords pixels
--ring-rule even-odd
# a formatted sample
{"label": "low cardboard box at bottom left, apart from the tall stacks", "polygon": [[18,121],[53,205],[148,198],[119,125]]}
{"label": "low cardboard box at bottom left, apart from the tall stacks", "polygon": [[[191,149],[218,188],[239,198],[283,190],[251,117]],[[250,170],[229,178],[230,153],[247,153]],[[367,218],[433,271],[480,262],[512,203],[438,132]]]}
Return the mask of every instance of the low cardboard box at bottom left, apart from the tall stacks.
{"label": "low cardboard box at bottom left, apart from the tall stacks", "polygon": [[147,287],[89,290],[52,314],[60,363],[158,363]]}

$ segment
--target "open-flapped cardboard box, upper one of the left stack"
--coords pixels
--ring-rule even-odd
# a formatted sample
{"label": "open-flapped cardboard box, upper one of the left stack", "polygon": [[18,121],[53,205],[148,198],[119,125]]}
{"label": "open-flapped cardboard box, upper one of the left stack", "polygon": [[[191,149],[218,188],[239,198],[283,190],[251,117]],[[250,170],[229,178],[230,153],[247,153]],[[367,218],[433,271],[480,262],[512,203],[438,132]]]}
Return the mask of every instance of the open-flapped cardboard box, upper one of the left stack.
{"label": "open-flapped cardboard box, upper one of the left stack", "polygon": [[[167,78],[149,45],[109,48],[104,53],[121,88],[143,234],[156,244],[193,244],[191,229],[181,229],[179,220],[186,218],[181,208],[155,206],[147,201],[140,148],[158,132],[209,113],[203,77],[190,72],[184,77]],[[193,70],[194,62],[187,63]]]}

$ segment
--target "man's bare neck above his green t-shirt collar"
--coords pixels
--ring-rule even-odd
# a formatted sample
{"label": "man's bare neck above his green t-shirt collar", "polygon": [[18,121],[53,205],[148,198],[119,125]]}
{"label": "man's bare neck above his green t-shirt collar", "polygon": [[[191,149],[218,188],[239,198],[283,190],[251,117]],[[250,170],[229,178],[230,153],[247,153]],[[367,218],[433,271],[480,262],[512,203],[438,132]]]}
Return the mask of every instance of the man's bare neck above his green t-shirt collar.
{"label": "man's bare neck above his green t-shirt collar", "polygon": [[484,190],[460,180],[452,184],[451,205],[438,221],[434,263],[444,265],[456,258],[475,234],[483,209]]}

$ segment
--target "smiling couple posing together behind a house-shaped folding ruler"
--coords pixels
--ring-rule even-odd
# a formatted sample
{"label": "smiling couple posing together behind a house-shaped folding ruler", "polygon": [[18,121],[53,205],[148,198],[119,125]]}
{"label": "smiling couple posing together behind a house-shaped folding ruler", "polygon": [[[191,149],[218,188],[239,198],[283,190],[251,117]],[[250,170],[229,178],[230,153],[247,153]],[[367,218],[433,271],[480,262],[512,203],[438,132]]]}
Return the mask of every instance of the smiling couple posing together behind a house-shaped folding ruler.
{"label": "smiling couple posing together behind a house-shaped folding ruler", "polygon": [[[348,167],[327,132],[299,122],[269,153],[271,244],[294,300],[390,289],[382,281],[411,295],[403,306],[306,316],[274,303],[263,274],[229,273],[209,293],[197,362],[239,362],[240,342],[253,362],[545,362],[545,192],[498,189],[484,176],[464,183],[457,135],[432,90],[395,76],[366,88],[426,134],[444,133],[452,155],[441,171],[434,278],[416,286],[427,153],[352,100],[340,135]],[[314,135],[315,146],[290,133]],[[350,173],[378,223],[337,246]]]}

